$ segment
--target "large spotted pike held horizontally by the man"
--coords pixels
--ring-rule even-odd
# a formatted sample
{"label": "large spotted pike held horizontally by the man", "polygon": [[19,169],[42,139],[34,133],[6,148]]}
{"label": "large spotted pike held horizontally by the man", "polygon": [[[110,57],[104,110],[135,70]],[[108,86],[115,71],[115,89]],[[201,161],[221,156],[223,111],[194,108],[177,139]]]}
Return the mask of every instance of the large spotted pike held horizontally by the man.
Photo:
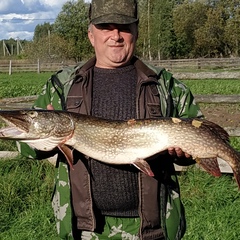
{"label": "large spotted pike held horizontally by the man", "polygon": [[240,155],[229,144],[227,132],[204,119],[159,118],[111,121],[52,110],[0,111],[7,126],[0,139],[15,139],[43,151],[58,147],[72,166],[69,148],[109,164],[133,164],[153,176],[145,159],[179,147],[203,168],[220,176],[217,157],[233,170],[240,188]]}

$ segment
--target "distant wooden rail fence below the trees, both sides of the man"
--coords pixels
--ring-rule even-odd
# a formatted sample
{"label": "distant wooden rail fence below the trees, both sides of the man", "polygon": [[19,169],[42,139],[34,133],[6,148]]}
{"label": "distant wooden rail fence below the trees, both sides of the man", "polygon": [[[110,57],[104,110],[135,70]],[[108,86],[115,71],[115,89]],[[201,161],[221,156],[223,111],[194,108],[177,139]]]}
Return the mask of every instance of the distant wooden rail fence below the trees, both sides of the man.
{"label": "distant wooden rail fence below the trees, both sides of the man", "polygon": [[[146,61],[149,62],[149,61]],[[197,58],[197,59],[175,59],[150,61],[154,66],[162,66],[171,71],[176,70],[239,70],[240,58]],[[0,72],[12,74],[14,72],[55,72],[63,66],[74,66],[75,62],[42,62],[36,60],[0,60]]]}

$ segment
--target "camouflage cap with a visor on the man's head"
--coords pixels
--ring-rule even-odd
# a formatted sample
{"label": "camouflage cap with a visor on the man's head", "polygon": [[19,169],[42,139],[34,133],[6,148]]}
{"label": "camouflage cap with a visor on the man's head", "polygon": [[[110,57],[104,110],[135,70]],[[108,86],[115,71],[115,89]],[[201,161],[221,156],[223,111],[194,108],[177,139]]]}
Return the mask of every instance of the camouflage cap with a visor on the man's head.
{"label": "camouflage cap with a visor on the man's head", "polygon": [[92,24],[131,24],[138,21],[136,0],[92,0],[89,9]]}

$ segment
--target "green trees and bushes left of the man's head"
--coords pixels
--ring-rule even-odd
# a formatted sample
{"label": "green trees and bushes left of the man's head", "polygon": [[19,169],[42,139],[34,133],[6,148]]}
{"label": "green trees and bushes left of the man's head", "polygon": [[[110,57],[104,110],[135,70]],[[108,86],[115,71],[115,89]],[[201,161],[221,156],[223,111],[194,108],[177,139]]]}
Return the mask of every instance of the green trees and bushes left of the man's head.
{"label": "green trees and bushes left of the man's head", "polygon": [[37,25],[33,41],[25,47],[28,59],[56,61],[89,58],[92,47],[87,38],[88,6],[83,0],[68,1],[54,24]]}

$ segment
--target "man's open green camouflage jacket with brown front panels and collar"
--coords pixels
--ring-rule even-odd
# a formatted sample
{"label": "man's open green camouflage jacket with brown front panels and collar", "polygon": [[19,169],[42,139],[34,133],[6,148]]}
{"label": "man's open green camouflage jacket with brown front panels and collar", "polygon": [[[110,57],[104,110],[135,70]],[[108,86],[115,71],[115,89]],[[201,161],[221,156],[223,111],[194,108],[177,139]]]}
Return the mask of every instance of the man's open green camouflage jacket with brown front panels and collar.
{"label": "man's open green camouflage jacket with brown front panels and collar", "polygon": [[[136,100],[138,118],[202,116],[190,90],[183,83],[174,79],[171,73],[165,69],[146,65],[137,58],[133,58],[133,64],[138,75]],[[75,68],[62,69],[57,72],[47,81],[34,107],[46,108],[48,104],[52,104],[55,109],[67,109],[68,111],[91,114],[91,80],[94,65],[95,59],[91,59],[83,66],[78,65]],[[76,92],[79,92],[76,89],[80,91],[79,96],[76,96]],[[25,156],[43,158],[41,152],[31,149],[26,144],[20,145],[20,151]],[[141,196],[139,197],[143,199],[143,201],[140,201],[141,206],[139,207],[139,216],[142,219],[139,235],[142,239],[154,239],[153,236],[161,236],[161,232],[166,239],[181,239],[185,232],[185,215],[173,160],[169,160],[169,157],[162,158],[161,161],[153,162],[155,164],[153,168],[157,171],[156,178],[150,178],[139,173],[139,182],[141,183]],[[75,190],[70,189],[70,171],[65,158],[61,154],[59,154],[56,167],[55,192],[52,204],[57,229],[61,239],[73,239],[71,190],[73,192]],[[75,174],[78,173],[78,176],[87,177],[85,179],[78,177],[75,180],[74,177],[71,177],[71,181],[79,181],[78,184],[84,188],[86,179],[90,182],[89,174],[86,169],[84,170],[84,167],[79,169],[81,170],[75,171]],[[146,190],[144,186],[151,186],[151,191]],[[82,199],[84,197],[86,198]],[[86,199],[89,199],[89,196],[83,194],[83,197],[77,196],[74,201],[86,203]],[[159,202],[156,200],[156,203],[152,204],[152,199],[159,199]],[[83,205],[88,205],[85,206],[86,209],[92,208],[89,201]],[[78,227],[84,226],[84,229],[94,231],[97,224],[95,216],[94,214],[90,216],[84,210],[77,209],[75,212],[78,218]],[[84,222],[84,219],[87,219],[87,221]],[[89,221],[89,219],[92,221]]]}

